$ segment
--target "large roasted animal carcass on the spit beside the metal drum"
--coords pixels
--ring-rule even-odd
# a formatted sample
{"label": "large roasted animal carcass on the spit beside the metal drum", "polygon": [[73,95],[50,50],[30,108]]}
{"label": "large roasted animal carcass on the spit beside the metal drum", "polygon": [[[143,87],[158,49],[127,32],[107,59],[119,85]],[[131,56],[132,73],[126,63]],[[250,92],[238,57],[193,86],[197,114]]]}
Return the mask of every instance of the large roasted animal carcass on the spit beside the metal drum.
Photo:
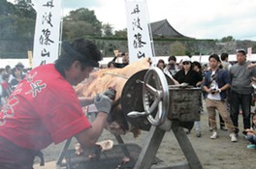
{"label": "large roasted animal carcass on the spit beside the metal drum", "polygon": [[108,120],[109,129],[114,134],[125,134],[128,131],[137,137],[140,129],[131,126],[126,120],[126,115],[122,112],[120,97],[123,87],[133,74],[141,70],[148,70],[150,67],[149,58],[144,58],[132,63],[123,69],[97,70],[90,74],[90,77],[82,81],[75,89],[80,97],[93,98],[99,93],[103,93],[112,87],[116,91],[115,99],[112,103],[111,115]]}

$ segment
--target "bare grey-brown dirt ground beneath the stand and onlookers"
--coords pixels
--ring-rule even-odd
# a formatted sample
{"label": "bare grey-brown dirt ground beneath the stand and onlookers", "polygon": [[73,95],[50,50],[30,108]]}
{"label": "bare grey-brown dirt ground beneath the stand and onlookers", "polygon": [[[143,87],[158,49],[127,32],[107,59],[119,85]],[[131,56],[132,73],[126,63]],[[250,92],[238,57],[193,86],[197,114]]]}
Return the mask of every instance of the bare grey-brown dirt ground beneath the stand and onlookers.
{"label": "bare grey-brown dirt ground beneath the stand and onlookers", "polygon": [[[240,127],[241,126],[240,115]],[[208,129],[208,115],[206,113],[201,116],[202,123],[202,137],[198,138],[195,135],[195,129],[192,129],[188,134],[192,146],[197,153],[203,167],[205,169],[255,169],[256,150],[246,149],[248,141],[242,137],[240,133],[239,141],[232,143],[229,138],[228,131],[218,130],[219,137],[215,140],[209,138],[211,132]],[[132,134],[122,136],[125,143],[136,143],[143,147],[144,141],[148,138],[148,132],[143,131],[142,135],[134,139]],[[115,143],[113,135],[105,130],[100,140],[112,139]],[[76,139],[73,139],[75,142]],[[48,149],[44,150],[46,161],[45,167],[39,167],[35,164],[35,169],[52,169],[55,168],[54,160],[61,152],[64,143],[59,145],[50,145]],[[71,144],[71,148],[74,144]],[[158,150],[157,157],[162,159],[165,164],[175,164],[177,162],[185,161],[185,156],[180,150],[176,141],[176,137],[172,131],[167,132]],[[51,161],[51,162],[49,162]]]}

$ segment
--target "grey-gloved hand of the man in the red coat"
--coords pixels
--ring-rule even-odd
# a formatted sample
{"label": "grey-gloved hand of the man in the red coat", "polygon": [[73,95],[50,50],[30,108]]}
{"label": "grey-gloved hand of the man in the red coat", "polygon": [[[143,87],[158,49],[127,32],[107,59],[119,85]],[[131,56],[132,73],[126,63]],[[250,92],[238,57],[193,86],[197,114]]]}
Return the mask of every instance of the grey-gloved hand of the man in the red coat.
{"label": "grey-gloved hand of the man in the red coat", "polygon": [[104,94],[98,94],[93,99],[99,112],[105,112],[110,114],[112,108],[112,100]]}

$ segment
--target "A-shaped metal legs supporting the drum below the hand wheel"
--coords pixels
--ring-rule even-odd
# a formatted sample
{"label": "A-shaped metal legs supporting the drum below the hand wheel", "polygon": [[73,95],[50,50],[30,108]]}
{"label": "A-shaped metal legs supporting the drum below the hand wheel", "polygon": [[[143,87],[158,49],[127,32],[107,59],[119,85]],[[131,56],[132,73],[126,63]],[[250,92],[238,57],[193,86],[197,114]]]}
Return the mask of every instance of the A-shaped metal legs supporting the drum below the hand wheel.
{"label": "A-shaped metal legs supporting the drum below the hand wheel", "polygon": [[[187,138],[185,131],[182,127],[179,127],[178,121],[172,121],[172,130],[174,131],[176,140],[187,159],[187,163],[179,163],[164,168],[153,167],[151,169],[203,169],[203,166]],[[150,128],[142,153],[139,155],[134,168],[149,169],[151,167],[151,163],[159,149],[165,132],[166,130],[159,127],[152,126]]]}

